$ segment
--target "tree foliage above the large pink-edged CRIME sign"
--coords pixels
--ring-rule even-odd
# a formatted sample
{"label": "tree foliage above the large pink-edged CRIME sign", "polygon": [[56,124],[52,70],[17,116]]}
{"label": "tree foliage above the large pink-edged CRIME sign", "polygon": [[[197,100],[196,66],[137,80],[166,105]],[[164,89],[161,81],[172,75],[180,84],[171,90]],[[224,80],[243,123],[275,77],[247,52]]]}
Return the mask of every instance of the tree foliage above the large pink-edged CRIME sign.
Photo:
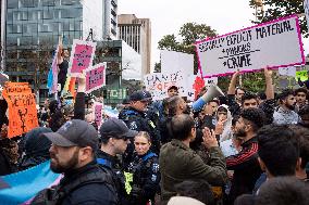
{"label": "tree foliage above the large pink-edged CRIME sign", "polygon": [[[304,0],[250,0],[249,4],[251,8],[256,9],[256,21],[254,23],[263,23],[279,17],[299,14],[300,29],[304,37],[309,37],[307,22],[304,10]],[[258,9],[258,8],[265,8]],[[301,14],[301,15],[300,15]]]}

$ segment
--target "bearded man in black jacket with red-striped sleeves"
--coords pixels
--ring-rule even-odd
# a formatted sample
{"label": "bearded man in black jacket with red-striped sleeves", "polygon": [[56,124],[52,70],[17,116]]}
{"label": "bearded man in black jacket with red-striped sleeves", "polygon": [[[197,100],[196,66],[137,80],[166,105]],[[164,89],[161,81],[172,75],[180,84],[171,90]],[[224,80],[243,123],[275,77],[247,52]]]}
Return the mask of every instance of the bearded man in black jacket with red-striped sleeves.
{"label": "bearded man in black jacket with red-striped sleeves", "polygon": [[257,131],[264,125],[264,113],[260,108],[243,110],[234,128],[234,134],[242,139],[242,151],[226,157],[227,170],[233,170],[228,204],[245,193],[251,193],[262,174],[258,162]]}

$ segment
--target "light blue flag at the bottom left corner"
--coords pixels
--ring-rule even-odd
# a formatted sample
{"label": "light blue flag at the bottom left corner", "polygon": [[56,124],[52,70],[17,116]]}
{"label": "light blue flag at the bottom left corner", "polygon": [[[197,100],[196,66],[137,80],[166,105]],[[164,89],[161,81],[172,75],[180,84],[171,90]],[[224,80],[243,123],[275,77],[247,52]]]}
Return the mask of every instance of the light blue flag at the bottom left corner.
{"label": "light blue flag at the bottom left corner", "polygon": [[0,204],[20,205],[29,201],[41,190],[57,184],[60,174],[49,168],[50,161],[29,169],[0,177]]}

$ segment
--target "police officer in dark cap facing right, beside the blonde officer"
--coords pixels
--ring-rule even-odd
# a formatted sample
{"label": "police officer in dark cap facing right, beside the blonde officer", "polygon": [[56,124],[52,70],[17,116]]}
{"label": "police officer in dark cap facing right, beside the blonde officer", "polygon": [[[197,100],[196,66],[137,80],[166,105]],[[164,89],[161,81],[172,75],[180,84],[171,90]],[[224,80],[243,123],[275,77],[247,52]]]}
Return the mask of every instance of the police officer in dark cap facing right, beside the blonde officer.
{"label": "police officer in dark cap facing right, beside the blonde officer", "polygon": [[100,134],[102,143],[97,153],[97,162],[113,176],[120,203],[128,204],[123,166],[116,155],[125,152],[129,138],[134,138],[137,131],[129,130],[121,119],[110,118],[100,127]]}

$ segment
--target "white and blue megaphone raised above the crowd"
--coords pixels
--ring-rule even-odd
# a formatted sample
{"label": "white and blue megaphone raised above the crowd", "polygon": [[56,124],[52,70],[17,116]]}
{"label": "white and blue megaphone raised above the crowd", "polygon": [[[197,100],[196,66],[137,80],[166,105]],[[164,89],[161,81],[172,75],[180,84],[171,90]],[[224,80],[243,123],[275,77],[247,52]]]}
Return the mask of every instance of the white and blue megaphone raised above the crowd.
{"label": "white and blue megaphone raised above the crowd", "polygon": [[218,86],[212,84],[210,85],[207,92],[193,103],[193,110],[195,112],[200,111],[206,103],[210,102],[211,100],[218,97],[224,97],[224,93]]}

